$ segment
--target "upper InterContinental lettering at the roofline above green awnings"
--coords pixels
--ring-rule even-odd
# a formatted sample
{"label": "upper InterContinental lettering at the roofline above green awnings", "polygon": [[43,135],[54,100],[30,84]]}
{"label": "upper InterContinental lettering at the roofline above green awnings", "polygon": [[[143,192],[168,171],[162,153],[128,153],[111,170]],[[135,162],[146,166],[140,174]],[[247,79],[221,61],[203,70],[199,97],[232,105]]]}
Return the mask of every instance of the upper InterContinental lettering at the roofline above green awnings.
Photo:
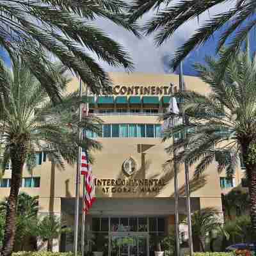
{"label": "upper InterContinental lettering at the roofline above green awnings", "polygon": [[[173,86],[173,92],[177,92],[177,86]],[[109,86],[105,92],[112,95],[170,95],[171,86]],[[102,94],[105,94],[102,93]]]}

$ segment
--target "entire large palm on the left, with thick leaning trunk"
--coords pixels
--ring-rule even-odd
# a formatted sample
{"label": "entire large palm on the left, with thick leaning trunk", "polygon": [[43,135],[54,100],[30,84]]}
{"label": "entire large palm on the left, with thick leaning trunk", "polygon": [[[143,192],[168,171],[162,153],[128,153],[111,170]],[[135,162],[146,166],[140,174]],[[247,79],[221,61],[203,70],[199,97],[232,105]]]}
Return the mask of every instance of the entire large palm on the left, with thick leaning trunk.
{"label": "entire large palm on the left, with thick leaning trunk", "polygon": [[[52,66],[53,68],[54,66]],[[24,163],[30,171],[35,166],[36,151],[44,151],[49,160],[65,168],[64,162],[76,163],[77,148],[88,148],[89,152],[99,149],[96,141],[77,138],[78,127],[86,127],[91,131],[100,132],[100,120],[92,116],[79,122],[77,109],[79,93],[74,92],[63,97],[59,104],[52,103],[47,97],[44,86],[39,83],[31,70],[21,60],[13,61],[12,70],[0,62],[1,78],[5,79],[0,100],[0,134],[2,134],[3,163],[12,162],[12,180],[8,208],[6,211],[6,228],[3,243],[3,255],[12,253],[15,239],[15,220],[17,198]],[[58,70],[62,70],[58,74]],[[55,68],[56,79],[62,82],[65,92],[67,77],[63,76],[65,68]],[[0,79],[1,80],[1,79]],[[70,111],[72,109],[74,111]]]}

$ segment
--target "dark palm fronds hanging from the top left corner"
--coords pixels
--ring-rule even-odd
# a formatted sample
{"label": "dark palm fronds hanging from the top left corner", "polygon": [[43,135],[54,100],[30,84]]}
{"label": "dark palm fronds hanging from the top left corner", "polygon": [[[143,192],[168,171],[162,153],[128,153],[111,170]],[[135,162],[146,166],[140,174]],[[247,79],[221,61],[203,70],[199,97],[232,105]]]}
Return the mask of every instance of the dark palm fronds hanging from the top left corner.
{"label": "dark palm fronds hanging from the top left corner", "polygon": [[49,72],[49,53],[97,93],[111,81],[91,53],[113,67],[131,69],[132,63],[122,45],[93,22],[110,20],[138,36],[136,25],[127,22],[126,5],[122,0],[1,0],[0,47],[11,57],[22,56],[54,100],[60,99],[60,93]]}

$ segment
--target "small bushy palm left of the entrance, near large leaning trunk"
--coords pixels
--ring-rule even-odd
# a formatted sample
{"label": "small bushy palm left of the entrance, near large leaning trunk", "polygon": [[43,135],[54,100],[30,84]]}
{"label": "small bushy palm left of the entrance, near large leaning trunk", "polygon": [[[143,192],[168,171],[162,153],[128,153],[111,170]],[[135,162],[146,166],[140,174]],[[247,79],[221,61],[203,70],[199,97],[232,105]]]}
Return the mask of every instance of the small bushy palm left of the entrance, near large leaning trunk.
{"label": "small bushy palm left of the entrance, near large leaning trunk", "polygon": [[61,227],[60,218],[50,214],[45,216],[39,223],[37,229],[37,235],[42,241],[47,241],[47,251],[52,252],[53,239],[56,239],[63,232],[70,232],[68,228]]}

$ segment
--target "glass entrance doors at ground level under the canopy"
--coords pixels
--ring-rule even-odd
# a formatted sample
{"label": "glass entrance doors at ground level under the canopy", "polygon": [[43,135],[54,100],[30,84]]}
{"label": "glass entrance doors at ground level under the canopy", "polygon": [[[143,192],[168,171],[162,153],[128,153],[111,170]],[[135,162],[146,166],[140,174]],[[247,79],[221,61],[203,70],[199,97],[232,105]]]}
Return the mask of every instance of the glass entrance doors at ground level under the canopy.
{"label": "glass entrance doors at ground level under the canopy", "polygon": [[148,256],[148,234],[111,234],[109,256]]}

